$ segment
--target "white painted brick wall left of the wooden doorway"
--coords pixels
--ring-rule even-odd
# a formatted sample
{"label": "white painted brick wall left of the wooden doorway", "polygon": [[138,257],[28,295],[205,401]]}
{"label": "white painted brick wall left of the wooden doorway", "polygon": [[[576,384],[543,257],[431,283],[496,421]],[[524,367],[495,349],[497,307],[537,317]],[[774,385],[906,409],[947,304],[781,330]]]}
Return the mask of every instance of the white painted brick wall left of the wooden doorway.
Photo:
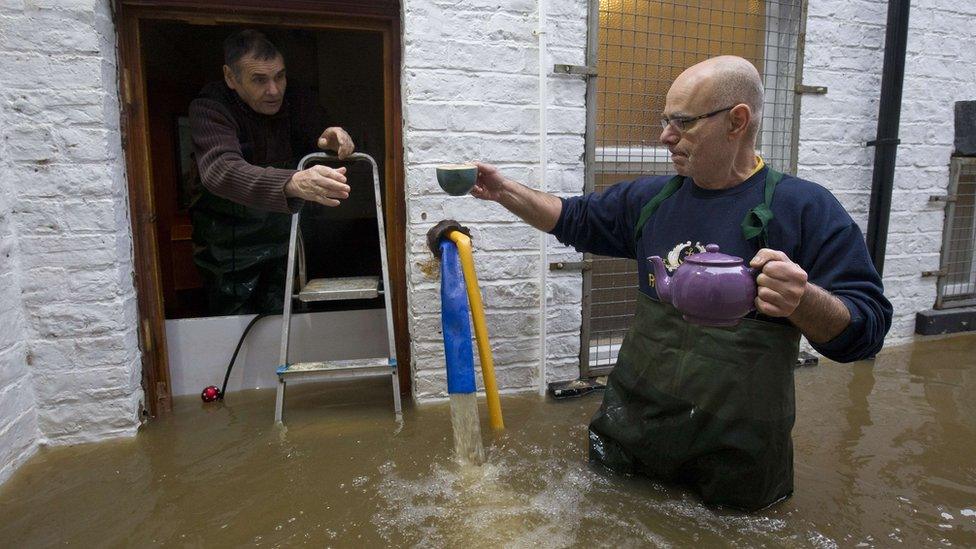
{"label": "white painted brick wall left of the wooden doorway", "polygon": [[[0,6],[0,242],[16,251],[0,267],[0,323],[15,334],[0,342],[0,433],[14,387],[31,410],[21,431],[46,443],[139,425],[115,41],[106,0]],[[0,456],[17,447],[3,437]]]}

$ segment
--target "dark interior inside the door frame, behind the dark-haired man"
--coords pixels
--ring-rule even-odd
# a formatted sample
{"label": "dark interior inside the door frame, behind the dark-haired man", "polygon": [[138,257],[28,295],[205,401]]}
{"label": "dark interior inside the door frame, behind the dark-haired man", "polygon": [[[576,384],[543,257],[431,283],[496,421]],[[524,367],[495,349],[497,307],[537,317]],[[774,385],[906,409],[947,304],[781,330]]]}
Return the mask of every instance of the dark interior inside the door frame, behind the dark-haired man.
{"label": "dark interior inside the door frame, behind the dark-haired man", "polygon": [[[177,21],[143,21],[140,25],[167,319],[211,314],[206,307],[203,282],[193,263],[189,207],[199,182],[187,111],[205,84],[223,78],[222,42],[241,28]],[[288,86],[306,88],[329,113],[331,123],[345,128],[356,142],[356,149],[375,158],[380,173],[384,173],[382,34],[251,25],[248,28],[265,33],[281,50],[288,69]],[[305,152],[313,151],[310,148]],[[309,255],[309,274],[313,278],[380,274],[372,176],[368,171],[357,170],[350,175],[350,183],[364,192],[352,193],[340,208],[310,205],[303,216],[306,247],[316,251]],[[329,302],[317,310],[381,306],[382,299],[375,303]]]}

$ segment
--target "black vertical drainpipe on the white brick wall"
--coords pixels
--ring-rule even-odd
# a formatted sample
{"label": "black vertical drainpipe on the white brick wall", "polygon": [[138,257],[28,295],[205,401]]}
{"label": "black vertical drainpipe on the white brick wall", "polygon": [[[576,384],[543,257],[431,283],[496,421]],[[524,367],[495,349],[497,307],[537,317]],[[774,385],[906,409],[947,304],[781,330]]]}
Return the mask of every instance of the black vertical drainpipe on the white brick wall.
{"label": "black vertical drainpipe on the white brick wall", "polygon": [[910,0],[888,0],[888,25],[885,29],[885,61],[881,75],[881,100],[878,106],[878,134],[867,145],[874,146],[874,173],[871,176],[871,209],[868,213],[868,251],[878,273],[884,271],[888,244],[888,217],[891,190],[895,180],[895,153],[898,150],[898,122],[901,118],[901,89],[905,80],[905,47],[908,42]]}

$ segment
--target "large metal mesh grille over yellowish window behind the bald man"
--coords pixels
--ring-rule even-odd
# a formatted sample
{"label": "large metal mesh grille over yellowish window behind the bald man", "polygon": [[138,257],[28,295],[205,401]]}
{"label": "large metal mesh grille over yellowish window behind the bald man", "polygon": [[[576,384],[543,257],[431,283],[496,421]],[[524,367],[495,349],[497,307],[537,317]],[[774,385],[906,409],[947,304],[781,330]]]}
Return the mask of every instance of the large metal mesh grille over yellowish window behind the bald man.
{"label": "large metal mesh grille over yellowish window behind the bald man", "polygon": [[[590,10],[589,55],[598,77],[587,131],[587,191],[602,191],[639,175],[673,173],[659,141],[658,120],[671,82],[689,66],[722,54],[750,60],[763,75],[760,153],[771,166],[795,171],[799,37],[802,0],[599,1]],[[583,376],[602,375],[635,311],[637,265],[632,260],[587,256],[584,272]]]}

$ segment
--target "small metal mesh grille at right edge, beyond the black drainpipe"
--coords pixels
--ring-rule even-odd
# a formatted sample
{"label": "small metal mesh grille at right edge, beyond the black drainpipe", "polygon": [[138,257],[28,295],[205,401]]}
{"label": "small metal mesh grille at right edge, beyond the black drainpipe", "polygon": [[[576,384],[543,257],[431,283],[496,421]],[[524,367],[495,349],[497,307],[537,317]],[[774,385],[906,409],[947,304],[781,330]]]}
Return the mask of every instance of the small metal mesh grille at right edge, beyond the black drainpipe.
{"label": "small metal mesh grille at right edge, beyond the black drainpipe", "polygon": [[976,304],[976,158],[953,158],[949,175],[937,309]]}

